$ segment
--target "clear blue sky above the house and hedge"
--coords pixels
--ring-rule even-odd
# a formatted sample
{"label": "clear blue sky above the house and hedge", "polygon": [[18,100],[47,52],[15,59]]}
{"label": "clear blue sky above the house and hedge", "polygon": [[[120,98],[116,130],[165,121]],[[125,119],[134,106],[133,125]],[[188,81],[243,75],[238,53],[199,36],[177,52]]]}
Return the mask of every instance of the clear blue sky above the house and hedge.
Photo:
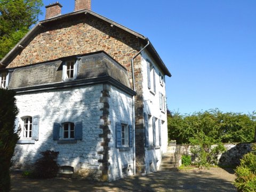
{"label": "clear blue sky above the house and hedge", "polygon": [[[59,0],[62,14],[74,2]],[[167,106],[183,114],[256,110],[255,9],[255,0],[92,0],[92,11],[150,39],[172,74]]]}

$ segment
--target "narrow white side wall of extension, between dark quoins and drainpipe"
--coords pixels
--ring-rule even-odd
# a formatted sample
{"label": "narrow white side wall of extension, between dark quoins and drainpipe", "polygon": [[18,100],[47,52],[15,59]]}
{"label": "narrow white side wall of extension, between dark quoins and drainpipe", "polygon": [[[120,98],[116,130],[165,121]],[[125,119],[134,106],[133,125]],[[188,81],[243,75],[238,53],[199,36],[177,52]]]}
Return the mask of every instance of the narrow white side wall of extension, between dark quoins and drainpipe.
{"label": "narrow white side wall of extension, between dark quoins and drainpipe", "polygon": [[109,92],[109,120],[111,121],[110,142],[109,142],[109,180],[123,178],[125,175],[122,169],[127,166],[128,175],[133,175],[133,148],[129,147],[125,151],[116,148],[116,122],[126,122],[132,125],[132,96],[111,86]]}

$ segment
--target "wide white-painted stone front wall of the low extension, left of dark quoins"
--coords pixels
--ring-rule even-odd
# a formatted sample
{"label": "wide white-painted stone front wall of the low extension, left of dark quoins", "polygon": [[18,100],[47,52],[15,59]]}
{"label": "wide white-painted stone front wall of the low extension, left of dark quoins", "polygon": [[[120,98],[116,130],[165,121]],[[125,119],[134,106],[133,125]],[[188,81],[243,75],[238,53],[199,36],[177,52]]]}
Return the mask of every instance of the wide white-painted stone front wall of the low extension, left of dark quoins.
{"label": "wide white-painted stone front wall of the low extension, left of dark quoins", "polygon": [[[29,166],[45,150],[59,151],[60,166],[74,167],[74,172],[94,170],[95,177],[101,174],[97,151],[102,151],[99,128],[103,103],[100,103],[102,84],[77,88],[18,94],[19,124],[22,117],[39,115],[39,140],[35,144],[17,144],[14,152],[14,166]],[[53,141],[53,123],[83,122],[83,139],[77,143],[58,144]],[[22,139],[22,135],[21,135]]]}

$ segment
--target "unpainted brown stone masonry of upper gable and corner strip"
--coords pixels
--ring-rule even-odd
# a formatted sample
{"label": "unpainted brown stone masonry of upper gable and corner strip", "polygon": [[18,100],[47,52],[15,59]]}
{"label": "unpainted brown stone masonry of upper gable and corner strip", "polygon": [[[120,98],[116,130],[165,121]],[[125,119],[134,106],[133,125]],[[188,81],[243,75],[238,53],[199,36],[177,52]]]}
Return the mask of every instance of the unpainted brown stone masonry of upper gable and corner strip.
{"label": "unpainted brown stone masonry of upper gable and corner strip", "polygon": [[[70,55],[85,54],[96,51],[105,51],[128,72],[132,87],[131,59],[143,45],[135,36],[101,21],[89,14],[70,19],[62,19],[45,24],[41,33],[35,34],[31,41],[10,62],[8,68],[45,62]],[[143,89],[141,70],[141,55],[134,59],[134,77],[137,95],[135,96],[135,129],[139,130],[143,138]],[[136,141],[144,146],[143,139]],[[141,148],[141,149],[142,149]],[[145,151],[137,153],[137,163],[144,166]],[[145,169],[144,169],[145,170]],[[142,170],[142,172],[144,172]]]}

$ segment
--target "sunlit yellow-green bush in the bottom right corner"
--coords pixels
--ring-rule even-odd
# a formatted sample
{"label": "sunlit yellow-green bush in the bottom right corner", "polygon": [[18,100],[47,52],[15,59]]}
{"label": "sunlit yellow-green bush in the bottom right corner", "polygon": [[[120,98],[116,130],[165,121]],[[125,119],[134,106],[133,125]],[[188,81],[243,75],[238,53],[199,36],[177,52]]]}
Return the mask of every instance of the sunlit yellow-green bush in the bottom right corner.
{"label": "sunlit yellow-green bush in the bottom right corner", "polygon": [[243,156],[235,171],[237,178],[234,185],[239,191],[256,191],[256,143],[252,152]]}

